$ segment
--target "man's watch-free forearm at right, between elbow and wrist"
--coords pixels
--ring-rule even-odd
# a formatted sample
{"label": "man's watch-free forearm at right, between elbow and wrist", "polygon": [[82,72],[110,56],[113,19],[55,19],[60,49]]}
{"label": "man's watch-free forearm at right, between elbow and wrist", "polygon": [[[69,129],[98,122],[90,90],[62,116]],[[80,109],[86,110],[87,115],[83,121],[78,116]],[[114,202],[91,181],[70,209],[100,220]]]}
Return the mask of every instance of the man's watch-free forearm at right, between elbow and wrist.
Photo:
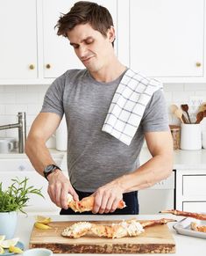
{"label": "man's watch-free forearm at right, between elbow and wrist", "polygon": [[136,171],[125,174],[112,182],[122,187],[124,193],[151,187],[162,179],[166,179],[173,171],[171,156],[157,155],[141,165]]}

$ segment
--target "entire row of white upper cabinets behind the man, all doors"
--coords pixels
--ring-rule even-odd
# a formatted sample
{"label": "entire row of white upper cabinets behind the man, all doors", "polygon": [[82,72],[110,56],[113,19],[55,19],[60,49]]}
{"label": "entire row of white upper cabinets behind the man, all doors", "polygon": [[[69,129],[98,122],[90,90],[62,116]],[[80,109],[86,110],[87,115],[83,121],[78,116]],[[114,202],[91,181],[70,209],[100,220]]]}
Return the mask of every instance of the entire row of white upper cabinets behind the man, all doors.
{"label": "entire row of white upper cabinets behind the man, all doors", "polygon": [[[119,60],[166,83],[206,82],[205,1],[94,0],[114,19]],[[83,68],[54,29],[75,2],[1,1],[0,84],[51,84]]]}

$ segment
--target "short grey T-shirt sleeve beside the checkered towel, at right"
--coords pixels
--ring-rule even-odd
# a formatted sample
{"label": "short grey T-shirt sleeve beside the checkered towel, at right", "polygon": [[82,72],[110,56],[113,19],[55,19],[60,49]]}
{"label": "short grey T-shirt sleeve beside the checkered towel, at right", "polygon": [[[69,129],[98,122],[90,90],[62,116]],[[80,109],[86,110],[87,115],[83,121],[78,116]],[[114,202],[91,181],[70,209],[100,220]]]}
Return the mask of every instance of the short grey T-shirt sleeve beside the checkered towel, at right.
{"label": "short grey T-shirt sleeve beside the checkered towel, at right", "polygon": [[141,126],[144,132],[167,131],[169,129],[167,104],[163,91],[159,90],[153,93],[153,97],[143,114]]}

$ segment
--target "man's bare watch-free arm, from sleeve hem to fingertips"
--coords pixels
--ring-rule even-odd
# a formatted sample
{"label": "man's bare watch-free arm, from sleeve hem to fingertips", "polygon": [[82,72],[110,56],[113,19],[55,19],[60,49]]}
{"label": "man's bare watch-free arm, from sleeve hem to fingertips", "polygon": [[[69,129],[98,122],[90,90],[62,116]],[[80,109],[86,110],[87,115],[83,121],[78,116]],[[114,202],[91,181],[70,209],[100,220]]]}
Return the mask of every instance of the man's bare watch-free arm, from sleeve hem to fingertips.
{"label": "man's bare watch-free arm, from sleeve hem to fingertips", "polygon": [[173,171],[173,140],[170,131],[147,132],[145,136],[153,157],[136,171],[97,189],[94,213],[113,212],[122,194],[151,187],[161,179],[166,179]]}

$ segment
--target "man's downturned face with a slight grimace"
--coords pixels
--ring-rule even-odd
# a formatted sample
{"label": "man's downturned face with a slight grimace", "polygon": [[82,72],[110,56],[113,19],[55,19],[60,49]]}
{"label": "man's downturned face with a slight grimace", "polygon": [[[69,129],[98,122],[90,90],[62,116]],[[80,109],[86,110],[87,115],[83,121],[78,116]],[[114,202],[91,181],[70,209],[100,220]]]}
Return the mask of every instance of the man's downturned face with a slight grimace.
{"label": "man's downturned face with a slight grimace", "polygon": [[113,29],[110,30],[104,37],[89,24],[83,24],[75,26],[67,33],[75,54],[90,72],[97,72],[110,62],[111,51],[113,51],[111,42],[114,36]]}

